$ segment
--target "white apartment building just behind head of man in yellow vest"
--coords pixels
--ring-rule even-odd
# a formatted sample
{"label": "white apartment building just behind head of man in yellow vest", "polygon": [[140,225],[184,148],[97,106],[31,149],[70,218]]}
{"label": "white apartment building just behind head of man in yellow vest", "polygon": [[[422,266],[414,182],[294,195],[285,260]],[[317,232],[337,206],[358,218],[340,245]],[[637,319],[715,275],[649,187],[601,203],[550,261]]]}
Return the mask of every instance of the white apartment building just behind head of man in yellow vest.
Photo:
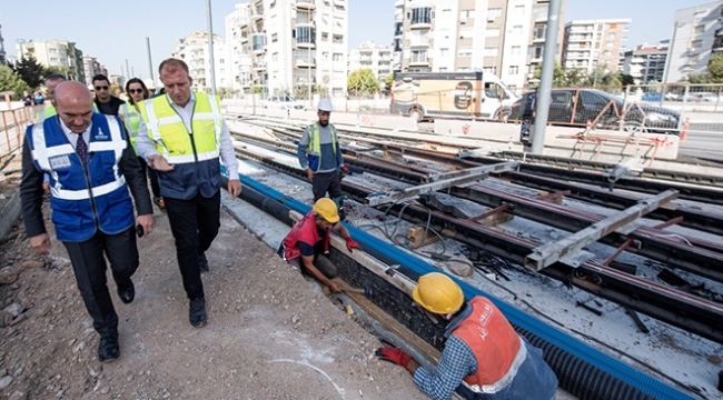
{"label": "white apartment building just behind head of man in yellow vest", "polygon": [[[214,34],[214,64],[216,76],[216,89],[230,89],[230,81],[227,74],[229,64],[227,60],[226,43],[221,37]],[[176,49],[171,57],[181,59],[188,64],[190,77],[194,79],[194,88],[201,91],[211,89],[211,62],[208,47],[208,32],[195,31],[187,37],[178,38]]]}

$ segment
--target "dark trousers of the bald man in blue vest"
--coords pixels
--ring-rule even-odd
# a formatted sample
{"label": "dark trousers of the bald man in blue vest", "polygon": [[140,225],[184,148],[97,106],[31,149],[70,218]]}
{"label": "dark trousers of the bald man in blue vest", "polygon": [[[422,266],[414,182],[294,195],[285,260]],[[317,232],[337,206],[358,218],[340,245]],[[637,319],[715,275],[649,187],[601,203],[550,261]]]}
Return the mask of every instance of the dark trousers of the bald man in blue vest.
{"label": "dark trousers of the bald man in blue vest", "polygon": [[82,242],[62,243],[70,256],[78,289],[93,319],[93,328],[100,336],[117,336],[118,314],[108,292],[103,253],[110,262],[116,284],[129,284],[130,277],[138,269],[135,227],[118,234],[97,232]]}

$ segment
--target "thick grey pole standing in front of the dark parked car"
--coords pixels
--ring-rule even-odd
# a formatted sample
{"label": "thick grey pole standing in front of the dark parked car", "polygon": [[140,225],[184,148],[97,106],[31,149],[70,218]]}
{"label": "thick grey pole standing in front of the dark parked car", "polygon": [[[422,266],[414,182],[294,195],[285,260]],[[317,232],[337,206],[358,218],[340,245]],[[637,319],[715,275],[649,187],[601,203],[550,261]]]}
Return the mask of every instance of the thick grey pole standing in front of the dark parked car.
{"label": "thick grey pole standing in front of the dark parked car", "polygon": [[545,148],[545,129],[549,113],[549,97],[555,69],[555,52],[557,50],[557,28],[559,27],[559,11],[562,0],[549,0],[547,9],[547,31],[545,32],[545,53],[543,54],[543,70],[537,89],[537,107],[535,109],[535,132],[532,137],[532,152],[541,154]]}

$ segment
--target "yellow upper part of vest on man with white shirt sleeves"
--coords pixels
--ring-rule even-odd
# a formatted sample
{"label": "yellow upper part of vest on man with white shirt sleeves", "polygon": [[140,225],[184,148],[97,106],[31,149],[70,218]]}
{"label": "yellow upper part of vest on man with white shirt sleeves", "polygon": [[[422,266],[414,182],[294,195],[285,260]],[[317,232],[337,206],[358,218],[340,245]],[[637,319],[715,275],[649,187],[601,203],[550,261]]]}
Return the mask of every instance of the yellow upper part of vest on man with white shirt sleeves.
{"label": "yellow upper part of vest on man with white shirt sleeves", "polygon": [[[148,136],[156,142],[158,152],[171,164],[192,163],[218,159],[224,117],[217,97],[194,93],[191,132],[171,107],[166,96],[139,104],[147,122]],[[192,136],[192,142],[191,142]]]}

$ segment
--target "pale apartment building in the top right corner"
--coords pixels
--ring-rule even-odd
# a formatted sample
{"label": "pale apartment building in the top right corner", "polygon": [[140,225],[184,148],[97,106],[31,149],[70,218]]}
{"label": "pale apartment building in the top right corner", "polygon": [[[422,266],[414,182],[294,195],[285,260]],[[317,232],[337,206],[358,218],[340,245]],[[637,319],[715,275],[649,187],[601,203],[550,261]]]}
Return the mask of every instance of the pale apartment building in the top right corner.
{"label": "pale apartment building in the top right corner", "polygon": [[664,82],[683,82],[691,73],[706,71],[713,52],[723,50],[722,13],[721,1],[675,11]]}

